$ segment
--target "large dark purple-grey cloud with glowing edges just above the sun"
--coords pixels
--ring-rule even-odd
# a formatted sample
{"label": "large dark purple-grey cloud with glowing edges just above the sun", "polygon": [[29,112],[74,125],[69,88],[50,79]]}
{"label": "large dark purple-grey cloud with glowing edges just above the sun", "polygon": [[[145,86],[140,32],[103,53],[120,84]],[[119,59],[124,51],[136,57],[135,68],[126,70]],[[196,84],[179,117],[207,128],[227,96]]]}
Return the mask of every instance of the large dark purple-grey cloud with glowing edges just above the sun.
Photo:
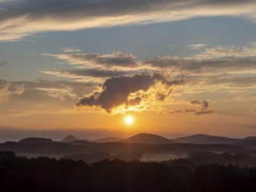
{"label": "large dark purple-grey cloud with glowing edges just above the sun", "polygon": [[[162,83],[164,86],[170,87],[181,85],[184,82],[182,80],[170,81],[159,73],[111,78],[104,82],[101,92],[94,92],[80,99],[77,106],[100,106],[105,109],[107,113],[111,113],[114,107],[126,104],[131,93],[137,93],[139,91],[146,92],[150,87],[156,86],[157,83]],[[132,101],[134,103],[141,102],[139,99]]]}

